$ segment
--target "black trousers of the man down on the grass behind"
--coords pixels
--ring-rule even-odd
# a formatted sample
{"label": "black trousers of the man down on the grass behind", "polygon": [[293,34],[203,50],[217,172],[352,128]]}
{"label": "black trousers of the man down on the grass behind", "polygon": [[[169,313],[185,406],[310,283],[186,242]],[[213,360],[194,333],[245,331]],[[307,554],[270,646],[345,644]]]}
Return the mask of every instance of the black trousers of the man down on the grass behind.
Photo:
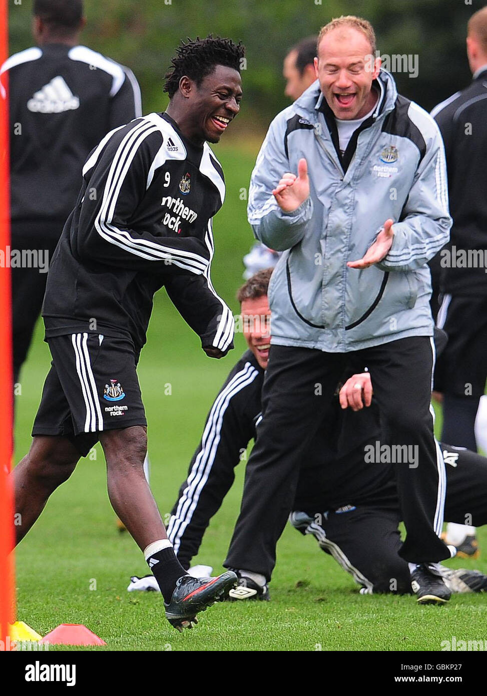
{"label": "black trousers of the man down on the grass behind", "polygon": [[[445,520],[476,527],[487,524],[486,457],[450,445],[441,448],[447,461]],[[313,519],[306,533],[312,533],[367,592],[412,592],[408,564],[398,555],[401,513],[394,485],[378,489],[360,505],[324,511],[319,489],[313,489],[314,475],[312,469],[303,472],[294,501],[296,510]]]}

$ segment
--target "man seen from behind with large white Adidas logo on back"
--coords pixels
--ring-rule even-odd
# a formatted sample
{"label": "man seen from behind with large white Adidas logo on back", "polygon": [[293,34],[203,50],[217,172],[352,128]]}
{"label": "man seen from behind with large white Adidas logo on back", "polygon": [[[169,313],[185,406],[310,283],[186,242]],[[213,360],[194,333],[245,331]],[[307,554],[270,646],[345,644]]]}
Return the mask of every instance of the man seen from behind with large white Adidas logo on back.
{"label": "man seen from behind with large white Adidas logo on back", "polygon": [[10,108],[14,382],[26,359],[47,269],[76,203],[81,168],[111,129],[141,116],[134,74],[79,45],[82,0],[35,0],[36,47],[1,67]]}

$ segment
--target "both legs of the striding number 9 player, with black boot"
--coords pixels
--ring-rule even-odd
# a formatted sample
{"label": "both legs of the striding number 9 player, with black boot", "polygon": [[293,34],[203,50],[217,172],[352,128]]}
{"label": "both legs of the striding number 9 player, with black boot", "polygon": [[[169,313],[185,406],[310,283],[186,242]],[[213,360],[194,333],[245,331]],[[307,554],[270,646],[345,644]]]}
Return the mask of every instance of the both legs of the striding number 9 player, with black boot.
{"label": "both legs of the striding number 9 player, with black boot", "polygon": [[[233,573],[211,581],[190,578],[168,541],[161,515],[145,480],[143,461],[147,433],[143,426],[99,433],[105,453],[110,502],[143,550],[166,601],[166,617],[179,631],[196,623],[195,615],[237,584]],[[29,454],[12,473],[15,484],[17,543],[22,539],[51,493],[70,477],[80,458],[63,437],[36,436]],[[184,579],[182,579],[184,578]],[[186,583],[186,585],[184,585]],[[190,584],[188,584],[190,583]]]}

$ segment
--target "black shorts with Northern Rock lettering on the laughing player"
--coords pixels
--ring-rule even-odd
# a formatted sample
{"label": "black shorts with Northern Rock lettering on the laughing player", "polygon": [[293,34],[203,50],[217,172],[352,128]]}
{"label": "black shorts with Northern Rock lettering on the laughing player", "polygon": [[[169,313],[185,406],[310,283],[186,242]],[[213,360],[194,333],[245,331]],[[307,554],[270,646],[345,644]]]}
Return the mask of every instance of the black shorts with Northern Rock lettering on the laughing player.
{"label": "black shorts with Northern Rock lettering on the laughing player", "polygon": [[147,425],[131,342],[97,333],[48,338],[51,370],[32,435],[61,435],[86,454],[103,430]]}

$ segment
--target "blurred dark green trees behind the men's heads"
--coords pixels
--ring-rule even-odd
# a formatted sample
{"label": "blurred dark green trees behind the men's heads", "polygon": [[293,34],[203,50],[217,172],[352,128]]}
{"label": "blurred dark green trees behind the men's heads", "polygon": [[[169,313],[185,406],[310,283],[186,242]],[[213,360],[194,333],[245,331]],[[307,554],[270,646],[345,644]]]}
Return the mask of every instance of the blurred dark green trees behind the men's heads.
{"label": "blurred dark green trees behind the men's heads", "polygon": [[[32,0],[9,5],[10,53],[15,53],[33,43]],[[167,104],[163,77],[179,40],[208,33],[242,40],[245,101],[229,136],[261,136],[288,104],[282,58],[332,17],[369,19],[381,54],[417,54],[417,77],[394,77],[401,93],[430,110],[470,81],[466,24],[483,5],[481,0],[85,0],[88,25],[81,41],[134,70],[147,113]]]}

